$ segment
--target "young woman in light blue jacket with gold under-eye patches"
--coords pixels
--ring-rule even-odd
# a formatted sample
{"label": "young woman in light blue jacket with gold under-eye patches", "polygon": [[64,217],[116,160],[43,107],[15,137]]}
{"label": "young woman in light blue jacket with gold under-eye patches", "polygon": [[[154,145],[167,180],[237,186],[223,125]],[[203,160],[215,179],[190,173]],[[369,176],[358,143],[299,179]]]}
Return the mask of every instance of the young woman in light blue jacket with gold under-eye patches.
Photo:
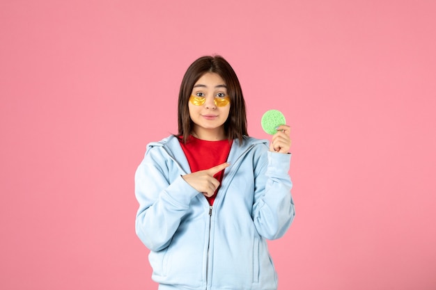
{"label": "young woman in light blue jacket with gold under-eye patches", "polygon": [[292,223],[290,127],[247,134],[238,77],[221,56],[189,66],[178,135],[146,148],[135,175],[136,231],[159,290],[277,289],[266,239]]}

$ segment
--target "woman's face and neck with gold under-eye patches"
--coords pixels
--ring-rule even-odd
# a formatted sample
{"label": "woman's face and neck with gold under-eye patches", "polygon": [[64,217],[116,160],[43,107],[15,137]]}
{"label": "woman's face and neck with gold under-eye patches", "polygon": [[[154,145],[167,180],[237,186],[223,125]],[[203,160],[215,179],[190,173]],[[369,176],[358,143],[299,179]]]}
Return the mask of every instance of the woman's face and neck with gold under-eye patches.
{"label": "woman's face and neck with gold under-eye patches", "polygon": [[226,83],[219,74],[207,72],[192,88],[189,117],[194,122],[194,136],[203,140],[224,140],[224,123],[230,112]]}

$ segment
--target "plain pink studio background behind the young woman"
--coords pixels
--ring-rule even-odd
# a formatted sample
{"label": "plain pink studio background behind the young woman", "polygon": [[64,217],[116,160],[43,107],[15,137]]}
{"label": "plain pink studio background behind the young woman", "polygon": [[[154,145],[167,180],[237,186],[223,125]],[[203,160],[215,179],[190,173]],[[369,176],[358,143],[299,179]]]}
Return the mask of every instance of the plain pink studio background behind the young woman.
{"label": "plain pink studio background behind the young woman", "polygon": [[279,289],[436,289],[435,1],[0,3],[0,288],[156,289],[134,170],[221,54],[293,132]]}

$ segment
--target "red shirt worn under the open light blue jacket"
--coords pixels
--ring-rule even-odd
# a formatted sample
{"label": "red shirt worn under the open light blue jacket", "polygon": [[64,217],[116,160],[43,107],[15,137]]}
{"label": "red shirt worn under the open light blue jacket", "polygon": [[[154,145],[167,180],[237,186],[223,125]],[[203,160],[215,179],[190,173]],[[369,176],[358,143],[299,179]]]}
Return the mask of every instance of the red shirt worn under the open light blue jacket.
{"label": "red shirt worn under the open light blue jacket", "polygon": [[[180,140],[180,146],[182,146],[182,150],[185,152],[191,172],[206,170],[226,162],[232,143],[233,140],[207,141],[195,138],[194,136],[189,136],[186,144]],[[220,184],[223,176],[224,170],[214,175]],[[218,186],[214,195],[210,198],[206,197],[210,205],[213,204],[220,187]]]}

